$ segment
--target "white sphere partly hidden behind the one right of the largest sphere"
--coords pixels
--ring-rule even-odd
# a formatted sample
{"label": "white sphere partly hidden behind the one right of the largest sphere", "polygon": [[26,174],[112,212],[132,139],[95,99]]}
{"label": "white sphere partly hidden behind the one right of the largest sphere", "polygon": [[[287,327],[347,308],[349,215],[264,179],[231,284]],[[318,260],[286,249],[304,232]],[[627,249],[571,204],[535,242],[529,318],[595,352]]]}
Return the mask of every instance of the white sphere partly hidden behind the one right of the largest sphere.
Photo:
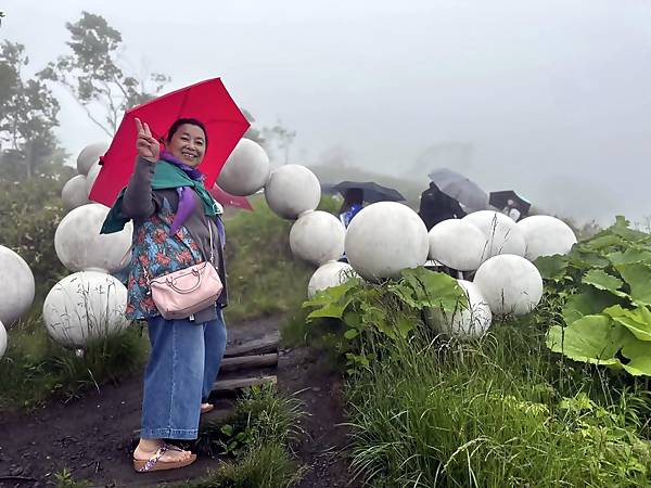
{"label": "white sphere partly hidden behind the one right of the largest sphere", "polygon": [[500,254],[524,256],[524,235],[510,217],[499,211],[480,210],[468,214],[462,220],[476,226],[486,236],[482,261]]}

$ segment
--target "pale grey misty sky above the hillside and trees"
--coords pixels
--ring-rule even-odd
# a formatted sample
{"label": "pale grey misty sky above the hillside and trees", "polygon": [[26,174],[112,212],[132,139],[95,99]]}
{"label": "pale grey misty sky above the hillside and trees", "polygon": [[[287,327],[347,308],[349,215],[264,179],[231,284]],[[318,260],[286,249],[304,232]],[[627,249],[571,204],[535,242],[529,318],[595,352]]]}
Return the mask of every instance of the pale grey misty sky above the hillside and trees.
{"label": "pale grey misty sky above the hillside and trees", "polygon": [[[258,126],[297,131],[292,162],[333,147],[401,175],[439,165],[485,190],[514,188],[580,220],[651,216],[651,2],[646,0],[3,1],[0,38],[33,69],[67,53],[81,10],[123,34],[125,60],[170,91],[221,76]],[[62,101],[77,154],[103,139]],[[445,153],[444,153],[445,154]],[[454,158],[452,159],[457,159]]]}

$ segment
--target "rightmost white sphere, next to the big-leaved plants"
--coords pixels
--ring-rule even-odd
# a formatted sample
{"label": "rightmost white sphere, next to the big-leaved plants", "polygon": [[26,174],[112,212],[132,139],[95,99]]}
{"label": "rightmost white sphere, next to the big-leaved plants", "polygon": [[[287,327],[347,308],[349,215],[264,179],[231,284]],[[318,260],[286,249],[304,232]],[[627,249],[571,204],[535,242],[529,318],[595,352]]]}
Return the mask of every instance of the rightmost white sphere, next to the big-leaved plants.
{"label": "rightmost white sphere, next to the big-leaved plants", "polygon": [[518,222],[526,242],[526,257],[535,261],[540,256],[567,254],[576,244],[576,235],[565,222],[548,215],[534,215]]}

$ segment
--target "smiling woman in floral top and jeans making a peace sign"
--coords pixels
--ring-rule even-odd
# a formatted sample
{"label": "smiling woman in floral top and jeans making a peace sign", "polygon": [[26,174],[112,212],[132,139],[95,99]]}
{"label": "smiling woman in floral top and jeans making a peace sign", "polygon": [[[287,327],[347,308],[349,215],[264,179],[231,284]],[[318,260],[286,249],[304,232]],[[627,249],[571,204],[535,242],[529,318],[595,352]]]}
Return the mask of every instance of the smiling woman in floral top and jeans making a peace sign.
{"label": "smiling woman in floral top and jeans making a peace sign", "polygon": [[[196,439],[200,413],[213,408],[207,400],[226,349],[221,308],[227,296],[221,207],[196,169],[208,145],[204,125],[189,118],[175,121],[162,153],[149,126],[139,119],[136,126],[136,169],[102,232],[115,232],[133,220],[127,318],[146,320],[151,343],[133,467],[146,472],[183,467],[196,459],[163,439]],[[188,268],[212,254],[225,285],[217,303],[188,319],[164,319],[148,277]]]}

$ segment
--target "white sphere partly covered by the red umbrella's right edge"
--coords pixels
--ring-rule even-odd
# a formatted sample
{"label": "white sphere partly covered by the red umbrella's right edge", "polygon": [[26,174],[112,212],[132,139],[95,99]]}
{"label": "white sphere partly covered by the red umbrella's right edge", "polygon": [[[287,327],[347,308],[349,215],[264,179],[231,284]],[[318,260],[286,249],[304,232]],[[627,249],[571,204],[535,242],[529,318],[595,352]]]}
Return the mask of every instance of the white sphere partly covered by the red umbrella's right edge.
{"label": "white sphere partly covered by the red umbrella's right edge", "polygon": [[241,139],[219,174],[217,184],[231,195],[253,195],[269,180],[269,156],[251,139]]}

